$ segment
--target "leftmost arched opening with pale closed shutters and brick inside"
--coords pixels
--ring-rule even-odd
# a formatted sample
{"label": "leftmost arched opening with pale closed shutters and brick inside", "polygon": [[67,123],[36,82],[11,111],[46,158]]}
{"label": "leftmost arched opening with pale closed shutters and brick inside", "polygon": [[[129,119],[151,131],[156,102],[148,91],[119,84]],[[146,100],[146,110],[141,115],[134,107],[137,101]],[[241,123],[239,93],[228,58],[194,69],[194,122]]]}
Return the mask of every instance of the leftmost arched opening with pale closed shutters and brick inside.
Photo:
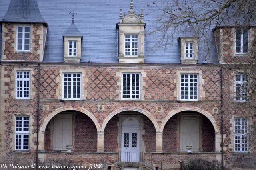
{"label": "leftmost arched opening with pale closed shutters and brick inside", "polygon": [[52,117],[44,133],[44,150],[75,152],[97,151],[97,128],[92,119],[80,111],[62,111]]}

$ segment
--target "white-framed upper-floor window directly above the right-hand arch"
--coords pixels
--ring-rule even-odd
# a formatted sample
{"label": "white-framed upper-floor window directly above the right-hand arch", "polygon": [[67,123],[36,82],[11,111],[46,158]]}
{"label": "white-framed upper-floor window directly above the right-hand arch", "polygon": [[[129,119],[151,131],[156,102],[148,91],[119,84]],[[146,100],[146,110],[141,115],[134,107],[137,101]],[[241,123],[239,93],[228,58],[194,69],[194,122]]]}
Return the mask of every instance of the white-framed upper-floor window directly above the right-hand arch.
{"label": "white-framed upper-floor window directly above the right-hand arch", "polygon": [[180,100],[198,100],[198,74],[180,74]]}

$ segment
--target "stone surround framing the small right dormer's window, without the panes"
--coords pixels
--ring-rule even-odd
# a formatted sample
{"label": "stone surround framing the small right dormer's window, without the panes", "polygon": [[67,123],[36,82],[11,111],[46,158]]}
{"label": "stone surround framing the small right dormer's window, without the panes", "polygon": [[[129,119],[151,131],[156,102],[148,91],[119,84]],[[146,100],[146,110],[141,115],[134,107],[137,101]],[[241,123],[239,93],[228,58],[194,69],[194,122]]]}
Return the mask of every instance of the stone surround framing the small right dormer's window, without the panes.
{"label": "stone surround framing the small right dormer's window, without the panes", "polygon": [[[193,58],[185,57],[185,43],[193,43]],[[198,37],[180,37],[180,60],[182,64],[196,64],[198,60]]]}

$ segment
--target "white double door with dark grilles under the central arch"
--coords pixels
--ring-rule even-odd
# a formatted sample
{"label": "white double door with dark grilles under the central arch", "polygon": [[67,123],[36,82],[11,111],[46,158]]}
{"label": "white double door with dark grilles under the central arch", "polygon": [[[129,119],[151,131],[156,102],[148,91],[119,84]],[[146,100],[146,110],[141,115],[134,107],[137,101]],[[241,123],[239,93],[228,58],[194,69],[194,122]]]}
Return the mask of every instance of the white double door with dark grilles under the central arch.
{"label": "white double door with dark grilles under the central arch", "polygon": [[122,129],[122,162],[139,162],[140,160],[140,130]]}

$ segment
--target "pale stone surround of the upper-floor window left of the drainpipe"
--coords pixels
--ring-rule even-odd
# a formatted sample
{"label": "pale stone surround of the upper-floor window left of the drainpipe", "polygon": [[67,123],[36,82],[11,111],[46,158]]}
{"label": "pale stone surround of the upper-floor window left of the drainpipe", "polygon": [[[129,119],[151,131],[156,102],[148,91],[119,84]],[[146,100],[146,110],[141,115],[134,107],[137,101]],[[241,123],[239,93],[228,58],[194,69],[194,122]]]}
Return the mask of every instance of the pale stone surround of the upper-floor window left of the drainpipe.
{"label": "pale stone surround of the upper-floor window left of the drainpipe", "polygon": [[[16,72],[17,71],[30,71],[30,96],[28,99],[22,99],[22,98],[16,98]],[[34,85],[32,84],[32,82],[35,81],[34,77],[34,70],[33,68],[19,68],[19,67],[15,67],[13,70],[12,70],[12,76],[11,76],[11,81],[13,82],[13,90],[11,91],[11,96],[13,99],[15,100],[31,100],[31,99],[34,99],[34,96],[36,96],[36,91],[34,90]]]}

